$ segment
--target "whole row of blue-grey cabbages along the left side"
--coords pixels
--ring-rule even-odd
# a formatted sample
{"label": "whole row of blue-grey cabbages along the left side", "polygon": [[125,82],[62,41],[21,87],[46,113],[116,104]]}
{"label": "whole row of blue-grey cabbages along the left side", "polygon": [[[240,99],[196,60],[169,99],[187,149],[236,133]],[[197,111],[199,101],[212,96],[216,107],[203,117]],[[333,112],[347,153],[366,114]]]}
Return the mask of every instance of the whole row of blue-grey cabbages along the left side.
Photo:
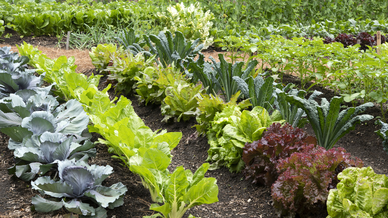
{"label": "whole row of blue-grey cabbages along the left side", "polygon": [[[36,195],[32,198],[35,210],[65,207],[83,216],[106,217],[104,208],[121,206],[126,187],[120,182],[101,185],[112,167],[88,164],[96,149],[89,140],[89,117],[80,102],[60,105],[49,95],[52,85],[41,86],[44,74],[37,77],[34,70],[26,69],[29,59],[11,53],[10,47],[0,48],[0,60],[0,130],[10,137],[8,148],[16,162],[8,171],[21,180],[34,180],[31,187],[41,195],[57,198],[52,201]],[[53,172],[59,179],[49,176]]]}

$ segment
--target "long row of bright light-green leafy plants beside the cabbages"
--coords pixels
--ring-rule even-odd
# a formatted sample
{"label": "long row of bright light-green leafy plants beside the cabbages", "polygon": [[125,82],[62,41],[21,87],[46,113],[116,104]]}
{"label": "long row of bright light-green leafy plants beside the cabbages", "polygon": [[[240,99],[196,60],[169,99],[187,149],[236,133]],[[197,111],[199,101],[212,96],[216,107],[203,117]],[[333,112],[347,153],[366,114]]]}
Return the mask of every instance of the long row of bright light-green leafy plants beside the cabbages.
{"label": "long row of bright light-green leafy plants beside the cabbages", "polygon": [[181,132],[152,131],[136,115],[128,99],[109,99],[110,85],[98,91],[100,76],[88,78],[75,73],[74,58],[62,56],[51,60],[27,44],[19,47],[19,52],[30,57],[30,64],[38,73],[46,72],[46,81],[55,83],[64,99],[77,99],[83,104],[93,123],[89,131],[103,136],[98,141],[138,174],[149,189],[154,201],[150,209],[160,213],[154,217],[181,218],[196,205],[218,201],[216,179],[204,178],[208,163],[194,174],[182,166],[172,173],[167,169],[172,161],[170,152],[179,144]]}

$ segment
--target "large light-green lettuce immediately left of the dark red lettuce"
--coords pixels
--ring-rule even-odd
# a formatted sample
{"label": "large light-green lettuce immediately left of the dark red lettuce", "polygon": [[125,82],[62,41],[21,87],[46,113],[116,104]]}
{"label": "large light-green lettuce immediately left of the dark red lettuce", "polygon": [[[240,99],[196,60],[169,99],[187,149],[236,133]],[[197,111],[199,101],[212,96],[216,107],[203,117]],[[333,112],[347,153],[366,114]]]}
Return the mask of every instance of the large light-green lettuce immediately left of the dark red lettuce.
{"label": "large light-green lettuce immediately left of the dark red lettuce", "polygon": [[238,106],[230,105],[216,112],[206,134],[210,144],[206,161],[213,162],[211,169],[226,166],[231,172],[241,171],[244,168],[241,157],[245,143],[259,140],[263,131],[276,121],[281,121],[279,112],[270,116],[260,106],[241,112]]}

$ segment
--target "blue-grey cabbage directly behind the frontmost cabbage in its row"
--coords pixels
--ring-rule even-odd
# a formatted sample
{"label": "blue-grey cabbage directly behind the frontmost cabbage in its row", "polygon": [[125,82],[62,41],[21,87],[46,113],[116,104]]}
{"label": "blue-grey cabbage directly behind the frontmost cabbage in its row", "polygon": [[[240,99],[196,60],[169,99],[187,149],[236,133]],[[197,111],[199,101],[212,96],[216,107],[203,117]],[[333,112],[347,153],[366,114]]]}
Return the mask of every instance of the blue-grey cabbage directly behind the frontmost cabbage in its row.
{"label": "blue-grey cabbage directly behind the frontmost cabbage in its row", "polygon": [[22,145],[14,150],[16,164],[8,168],[8,172],[29,181],[55,168],[57,160],[87,161],[89,157],[96,156],[96,148],[91,141],[79,144],[73,141],[73,137],[51,132],[24,137]]}

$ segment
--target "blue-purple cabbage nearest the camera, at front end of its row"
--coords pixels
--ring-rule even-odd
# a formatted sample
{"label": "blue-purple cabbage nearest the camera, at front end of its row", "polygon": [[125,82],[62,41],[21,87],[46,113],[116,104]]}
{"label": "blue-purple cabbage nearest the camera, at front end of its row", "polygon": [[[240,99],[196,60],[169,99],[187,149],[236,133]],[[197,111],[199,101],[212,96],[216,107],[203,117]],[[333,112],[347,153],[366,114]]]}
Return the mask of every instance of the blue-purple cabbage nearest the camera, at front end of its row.
{"label": "blue-purple cabbage nearest the camera, at front end of its row", "polygon": [[[88,165],[84,161],[57,161],[59,180],[48,176],[39,177],[31,182],[31,187],[42,195],[58,200],[47,200],[39,195],[32,198],[32,204],[38,212],[51,212],[65,207],[74,214],[92,217],[106,217],[104,208],[121,206],[127,188],[119,183],[110,187],[101,183],[113,171],[112,167]],[[90,201],[96,206],[90,205]]]}

